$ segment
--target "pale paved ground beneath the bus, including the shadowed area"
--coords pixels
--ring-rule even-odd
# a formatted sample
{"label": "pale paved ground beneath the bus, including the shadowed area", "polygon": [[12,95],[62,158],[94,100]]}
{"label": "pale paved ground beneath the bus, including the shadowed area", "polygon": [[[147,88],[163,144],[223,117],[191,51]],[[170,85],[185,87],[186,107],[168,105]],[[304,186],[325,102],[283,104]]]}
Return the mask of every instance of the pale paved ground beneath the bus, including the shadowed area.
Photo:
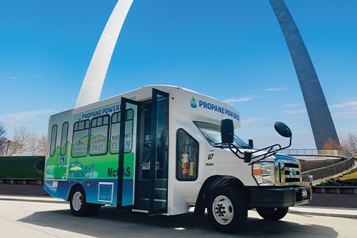
{"label": "pale paved ground beneath the bus, including the shadowed area", "polygon": [[[11,196],[10,196],[11,197]],[[289,212],[267,222],[251,210],[241,232],[216,232],[208,217],[148,217],[102,207],[93,217],[72,216],[69,204],[0,199],[0,237],[356,237],[357,218]]]}

